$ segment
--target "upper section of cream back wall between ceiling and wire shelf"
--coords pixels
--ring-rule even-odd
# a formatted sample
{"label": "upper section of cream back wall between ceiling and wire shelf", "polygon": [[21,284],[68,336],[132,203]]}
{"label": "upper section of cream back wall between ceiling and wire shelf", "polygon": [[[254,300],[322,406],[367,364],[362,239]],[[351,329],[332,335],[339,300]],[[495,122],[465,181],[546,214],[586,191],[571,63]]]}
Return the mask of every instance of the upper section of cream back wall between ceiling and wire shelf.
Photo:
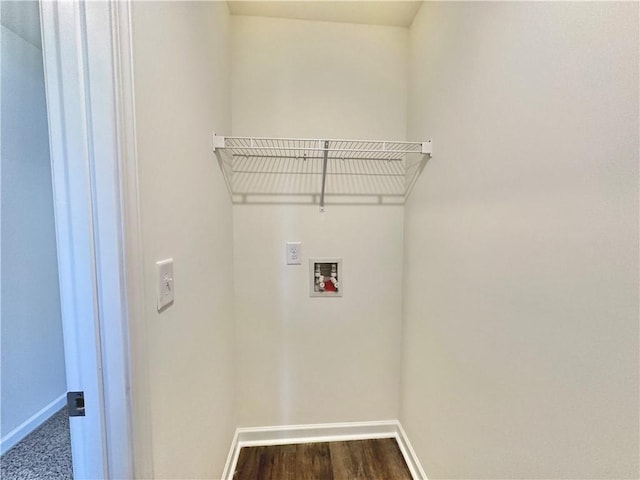
{"label": "upper section of cream back wall between ceiling and wire shelf", "polygon": [[407,29],[232,19],[234,135],[404,139]]}

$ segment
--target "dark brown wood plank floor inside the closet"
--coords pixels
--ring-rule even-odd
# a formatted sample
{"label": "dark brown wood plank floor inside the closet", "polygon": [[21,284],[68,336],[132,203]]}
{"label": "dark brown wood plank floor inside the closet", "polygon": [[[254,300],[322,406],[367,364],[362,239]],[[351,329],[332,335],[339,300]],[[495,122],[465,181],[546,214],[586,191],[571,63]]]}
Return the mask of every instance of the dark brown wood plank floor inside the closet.
{"label": "dark brown wood plank floor inside the closet", "polygon": [[240,450],[234,480],[411,480],[395,439]]}

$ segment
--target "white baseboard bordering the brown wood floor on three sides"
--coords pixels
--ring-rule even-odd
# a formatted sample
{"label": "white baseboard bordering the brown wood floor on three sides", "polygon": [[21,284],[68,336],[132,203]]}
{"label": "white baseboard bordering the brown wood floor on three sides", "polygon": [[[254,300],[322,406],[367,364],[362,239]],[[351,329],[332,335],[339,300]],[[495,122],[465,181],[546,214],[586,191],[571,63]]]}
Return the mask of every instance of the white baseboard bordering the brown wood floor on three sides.
{"label": "white baseboard bordering the brown wood floor on three sides", "polygon": [[222,478],[223,480],[232,480],[242,447],[341,442],[374,438],[395,438],[412,477],[415,480],[428,480],[398,420],[238,428],[231,442]]}

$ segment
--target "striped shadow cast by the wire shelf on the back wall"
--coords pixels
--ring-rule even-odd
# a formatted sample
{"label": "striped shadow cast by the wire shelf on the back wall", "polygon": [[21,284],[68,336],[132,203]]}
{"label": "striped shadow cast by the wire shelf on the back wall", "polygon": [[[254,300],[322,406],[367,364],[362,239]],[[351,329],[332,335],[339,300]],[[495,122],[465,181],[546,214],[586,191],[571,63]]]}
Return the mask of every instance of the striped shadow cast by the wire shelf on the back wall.
{"label": "striped shadow cast by the wire shelf on the back wall", "polygon": [[[233,203],[308,205],[319,202],[323,187],[322,152],[292,150],[235,153],[222,150],[218,162]],[[325,202],[339,205],[401,205],[424,168],[426,158],[327,158]]]}

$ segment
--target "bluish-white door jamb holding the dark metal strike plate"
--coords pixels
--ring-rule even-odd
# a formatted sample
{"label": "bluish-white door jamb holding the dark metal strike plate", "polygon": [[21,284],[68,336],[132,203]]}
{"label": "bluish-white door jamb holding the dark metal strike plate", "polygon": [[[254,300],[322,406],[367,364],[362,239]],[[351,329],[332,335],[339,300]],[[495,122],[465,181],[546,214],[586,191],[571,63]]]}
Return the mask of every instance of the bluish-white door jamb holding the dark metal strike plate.
{"label": "bluish-white door jamb holding the dark metal strike plate", "polygon": [[67,389],[85,393],[86,416],[70,421],[73,472],[109,478],[85,6],[40,2],[40,18]]}

